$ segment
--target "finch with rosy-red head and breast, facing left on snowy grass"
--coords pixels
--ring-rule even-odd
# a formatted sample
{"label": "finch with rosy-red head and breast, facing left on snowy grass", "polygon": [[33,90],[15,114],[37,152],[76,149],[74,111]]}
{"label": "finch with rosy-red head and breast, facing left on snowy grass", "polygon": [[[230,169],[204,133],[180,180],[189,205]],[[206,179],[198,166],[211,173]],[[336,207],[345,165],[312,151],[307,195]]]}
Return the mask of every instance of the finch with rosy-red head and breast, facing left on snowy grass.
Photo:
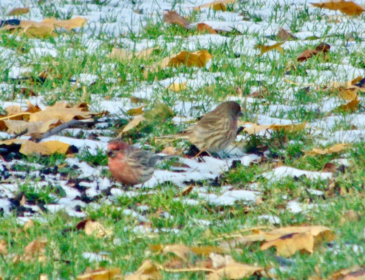
{"label": "finch with rosy-red head and breast, facing left on snowy grass", "polygon": [[118,140],[110,141],[107,148],[108,166],[112,176],[128,186],[149,180],[157,160],[169,158],[143,151]]}

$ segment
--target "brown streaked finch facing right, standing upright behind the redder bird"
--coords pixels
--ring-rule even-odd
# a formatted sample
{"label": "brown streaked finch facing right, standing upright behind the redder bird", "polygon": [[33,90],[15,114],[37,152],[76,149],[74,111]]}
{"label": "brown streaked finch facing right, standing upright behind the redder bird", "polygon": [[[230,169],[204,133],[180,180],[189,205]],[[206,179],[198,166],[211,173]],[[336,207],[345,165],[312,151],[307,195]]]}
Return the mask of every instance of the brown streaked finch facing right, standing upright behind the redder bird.
{"label": "brown streaked finch facing right, standing upright behind the redder bird", "polygon": [[223,102],[184,131],[158,139],[187,139],[200,150],[200,153],[219,152],[227,148],[236,138],[239,116],[242,116],[242,112],[237,102]]}

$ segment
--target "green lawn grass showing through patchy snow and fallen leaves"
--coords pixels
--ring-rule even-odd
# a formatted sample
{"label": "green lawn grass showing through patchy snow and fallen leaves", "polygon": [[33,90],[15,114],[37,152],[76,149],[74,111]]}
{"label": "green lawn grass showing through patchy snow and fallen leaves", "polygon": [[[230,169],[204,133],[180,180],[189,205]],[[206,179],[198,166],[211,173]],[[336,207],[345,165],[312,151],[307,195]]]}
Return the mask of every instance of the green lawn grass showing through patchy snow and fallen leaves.
{"label": "green lawn grass showing through patchy snow and fallen leaves", "polygon": [[[134,9],[142,5],[142,1],[127,2],[133,4]],[[208,15],[205,15],[204,11],[192,11],[191,9],[181,9],[180,11],[182,2],[173,1],[172,6],[192,22],[200,22],[205,19],[223,21],[222,13],[218,11],[209,11]],[[67,8],[61,9],[66,4]],[[110,1],[91,1],[88,4],[83,1],[62,1],[59,5],[58,7],[49,1],[39,1],[37,7],[43,17],[56,17],[64,20],[73,18],[76,14],[87,16],[95,8],[92,5],[96,5],[97,9],[102,11],[104,7],[110,7],[111,4]],[[0,8],[3,11],[4,7]],[[268,8],[271,11],[269,16],[261,12]],[[275,28],[288,26],[292,32],[305,31],[303,26],[307,28],[307,25],[311,23],[314,26],[313,30],[316,29],[316,26],[326,24],[323,22],[325,10],[299,8],[289,2],[269,5],[263,0],[245,1],[228,5],[227,11],[242,13],[241,16],[245,22],[263,23]],[[174,125],[171,114],[161,116],[161,110],[158,111],[161,104],[172,108],[179,101],[203,101],[204,106],[201,106],[199,111],[204,113],[224,98],[236,96],[237,86],[243,92],[241,105],[245,108],[247,116],[245,121],[252,121],[248,116],[255,119],[258,113],[299,123],[315,122],[331,115],[343,116],[344,120],[339,121],[333,128],[327,129],[327,132],[361,129],[361,127],[353,127],[349,123],[347,117],[352,112],[324,112],[320,105],[328,98],[335,96],[323,88],[327,80],[321,80],[321,71],[336,73],[334,65],[341,64],[343,59],[347,59],[350,66],[364,68],[363,51],[353,50],[347,48],[346,45],[343,46],[341,42],[338,43],[346,40],[346,34],[341,32],[334,34],[333,29],[327,28],[320,39],[297,39],[290,47],[284,47],[284,55],[279,54],[276,50],[258,55],[258,52],[255,53],[251,50],[253,49],[251,42],[267,45],[268,38],[262,32],[244,31],[240,34],[238,30],[233,29],[217,35],[224,36],[225,42],[206,44],[203,41],[204,35],[199,35],[194,30],[185,30],[180,26],[163,24],[160,16],[155,22],[149,13],[150,11],[144,9],[144,19],[138,32],[130,30],[119,36],[103,31],[90,35],[88,33],[90,30],[85,28],[80,31],[61,32],[55,38],[30,39],[26,36],[16,36],[1,31],[0,47],[11,51],[11,59],[6,57],[0,59],[2,69],[0,83],[9,85],[9,90],[0,92],[0,100],[27,100],[28,97],[19,94],[20,85],[22,88],[31,88],[37,95],[44,97],[46,105],[53,105],[58,101],[69,102],[72,105],[88,102],[93,110],[103,110],[99,101],[95,100],[131,98],[135,92],[154,86],[150,100],[141,100],[135,104],[135,107],[141,104],[146,105],[148,113],[145,116],[149,116],[148,121],[122,136],[125,141],[146,144],[154,151],[162,151],[165,147],[164,143],[155,141],[155,137],[176,133],[185,127],[180,124]],[[28,16],[25,15],[22,19],[27,19]],[[101,23],[115,23],[118,21],[118,15],[102,15],[100,21]],[[342,26],[347,24],[350,25],[351,32],[355,34],[362,32],[351,26],[351,19],[343,19],[343,22],[338,23],[338,30],[341,31]],[[273,31],[272,35],[276,32],[276,30]],[[195,37],[198,39],[194,42],[196,48],[192,51],[205,48],[213,56],[208,69],[197,70],[179,66],[176,69],[166,68],[149,73],[147,77],[144,76],[143,66],[152,65],[164,57],[186,50],[188,40]],[[360,44],[364,40],[360,36],[354,36],[354,39],[356,44]],[[146,41],[153,46],[160,46],[160,50],[155,51],[149,58],[119,61],[107,57],[113,47],[134,49],[135,46],[143,45]],[[89,51],[88,46],[93,42],[98,42],[99,46],[95,50]],[[319,42],[326,42],[336,47],[331,48],[326,58],[318,55],[307,62],[296,62],[296,58],[301,52],[314,48]],[[34,48],[45,47],[45,44],[57,50],[57,57],[34,54]],[[189,47],[192,48],[191,44]],[[291,70],[290,75],[286,75],[285,72],[292,63],[296,67]],[[32,69],[31,73],[23,75],[28,79],[19,81],[9,77],[11,67],[19,64]],[[307,70],[316,70],[319,74],[307,74]],[[50,77],[41,82],[37,78],[38,74],[43,71],[48,71]],[[201,74],[198,71],[207,75],[220,72],[224,74],[224,77],[216,77],[212,82],[205,82],[197,88],[187,88],[178,93],[169,92],[165,87],[156,83],[156,81],[174,78],[181,74],[188,79],[200,78]],[[74,77],[78,79],[80,74],[94,74],[99,78],[91,85],[75,86],[72,80]],[[106,83],[108,78],[117,80],[117,82]],[[298,81],[303,81],[304,84],[310,83],[311,86],[307,88],[307,85],[289,84],[284,81],[284,78],[293,82],[296,82],[297,78]],[[337,81],[346,80],[342,74],[336,75],[336,79]],[[86,94],[84,94],[83,86],[85,86]],[[245,102],[245,96],[260,89],[267,89],[269,94],[262,99],[256,98],[252,104]],[[288,91],[292,93],[292,98],[283,95]],[[363,93],[359,94],[360,97],[363,96]],[[279,104],[291,106],[290,110],[270,111],[271,105]],[[318,110],[308,110],[306,105],[311,104],[318,104]],[[157,110],[158,113],[153,113],[156,112],[154,110]],[[111,129],[112,132],[107,133],[107,136],[118,135],[131,119],[124,108],[121,108],[120,111],[123,113],[117,116],[119,119],[108,119],[108,123],[110,123],[108,129]],[[363,111],[364,107],[360,103],[360,109],[357,112],[362,113]],[[188,117],[198,117],[196,112]],[[174,113],[180,114],[180,112]],[[157,119],[157,116],[161,117]],[[277,273],[277,279],[308,279],[314,275],[314,271],[319,273],[318,276],[326,278],[337,269],[364,265],[364,255],[361,252],[354,252],[352,249],[352,246],[361,246],[364,242],[364,141],[354,143],[349,149],[339,153],[305,155],[305,152],[318,147],[316,144],[318,140],[323,140],[320,135],[314,135],[312,132],[310,128],[306,128],[300,132],[268,132],[265,136],[247,136],[248,140],[244,141],[243,146],[240,147],[260,155],[264,153],[265,156],[262,160],[258,163],[251,163],[249,166],[238,164],[236,168],[224,172],[214,181],[195,182],[195,188],[186,197],[179,195],[180,186],[166,182],[153,188],[153,193],[146,194],[144,191],[149,191],[149,189],[141,189],[135,191],[133,197],[112,198],[111,203],[104,203],[103,195],[101,195],[101,198],[94,201],[100,205],[99,208],[91,204],[82,210],[88,218],[99,221],[105,228],[113,230],[111,236],[103,238],[87,236],[82,230],[77,230],[76,225],[81,218],[70,217],[66,211],[53,214],[47,212],[43,206],[57,203],[58,199],[65,197],[65,191],[57,184],[48,184],[41,188],[35,187],[35,183],[42,179],[35,179],[30,172],[39,170],[39,167],[30,167],[18,162],[11,167],[10,175],[4,182],[1,182],[0,179],[1,183],[17,186],[13,200],[15,204],[18,204],[18,207],[13,207],[10,215],[4,214],[0,218],[0,240],[5,241],[9,252],[7,255],[0,254],[0,279],[2,277],[4,280],[38,280],[41,274],[46,274],[48,279],[75,279],[85,269],[103,267],[119,267],[124,275],[136,271],[146,259],[163,264],[171,256],[151,253],[150,245],[218,246],[216,237],[219,235],[229,235],[243,228],[273,226],[266,219],[259,219],[260,215],[279,217],[280,224],[275,227],[328,226],[334,230],[336,240],[329,245],[321,244],[311,255],[295,253],[289,259],[292,262],[291,265],[283,270],[279,269],[280,264],[275,256],[275,250],[271,248],[261,251],[258,243],[242,245],[242,252],[232,250],[230,254],[235,260],[264,267],[272,266],[274,272]],[[82,133],[78,137],[87,138]],[[178,148],[187,147],[186,143],[181,141],[173,141],[170,145]],[[98,151],[97,155],[84,151],[79,152],[76,156],[80,161],[87,162],[92,167],[107,165],[107,157],[103,151]],[[338,171],[330,180],[313,181],[305,176],[300,176],[272,182],[261,176],[262,173],[277,167],[278,161],[285,166],[321,171],[327,163],[341,158],[348,159],[350,166],[339,166]],[[64,180],[73,179],[71,182],[76,182],[79,175],[78,170],[65,164],[66,157],[62,155],[22,156],[21,159],[27,163],[39,163],[45,167],[40,168],[41,170],[46,169],[46,172],[51,174],[57,173]],[[173,161],[163,163],[159,169],[170,169],[172,164]],[[15,180],[13,175],[16,176],[17,172],[24,172],[24,178]],[[106,167],[101,171],[100,176],[112,179]],[[14,183],[15,181],[17,182]],[[232,185],[234,189],[248,190],[252,183],[257,183],[258,190],[262,192],[261,203],[246,204],[237,201],[232,206],[218,207],[199,199],[196,191],[197,188],[204,186],[209,193],[220,194],[222,186]],[[320,190],[324,194],[313,195],[308,192],[308,189]],[[18,215],[23,215],[26,211],[19,205],[23,196],[29,204],[42,208],[42,213],[38,215],[42,221],[35,219],[34,226],[26,230],[17,219]],[[186,198],[196,199],[199,203],[188,205],[184,203]],[[292,213],[286,210],[289,201],[297,201],[304,205],[314,203],[316,207],[306,212]],[[141,206],[148,207],[142,209]],[[127,211],[134,211],[139,216],[127,215]],[[349,211],[356,213],[356,218],[347,217]],[[208,226],[201,226],[197,222],[199,220],[211,223]],[[67,231],[68,229],[71,230]],[[45,261],[38,261],[37,258],[32,261],[23,260],[26,245],[40,238],[47,240]],[[334,253],[333,250],[337,250],[338,253]],[[88,261],[83,256],[85,252],[107,252],[107,258],[102,261]],[[162,277],[163,279],[204,279],[204,273],[162,272]],[[250,279],[256,279],[256,277],[251,276]]]}

